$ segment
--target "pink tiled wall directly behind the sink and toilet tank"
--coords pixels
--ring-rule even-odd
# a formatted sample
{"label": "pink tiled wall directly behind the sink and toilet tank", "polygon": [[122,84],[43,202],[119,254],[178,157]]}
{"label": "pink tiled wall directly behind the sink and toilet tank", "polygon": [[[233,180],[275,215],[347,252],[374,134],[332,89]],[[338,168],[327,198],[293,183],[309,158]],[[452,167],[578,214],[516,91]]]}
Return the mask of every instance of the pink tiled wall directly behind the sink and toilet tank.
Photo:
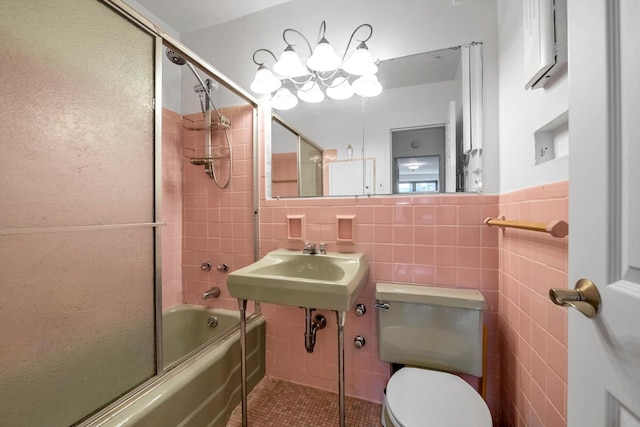
{"label": "pink tiled wall directly behind the sink and toilet tank", "polygon": [[[287,241],[287,215],[305,216],[304,240],[326,242],[330,251],[361,251],[370,263],[369,281],[358,302],[365,316],[347,315],[346,393],[380,402],[389,365],[378,360],[375,283],[394,281],[479,289],[488,303],[488,402],[498,412],[498,230],[483,225],[498,213],[498,196],[433,195],[344,199],[262,200],[260,251],[302,249]],[[336,215],[355,215],[354,244],[336,243]],[[267,318],[267,374],[337,391],[337,327],[333,312],[318,332],[316,350],[304,348],[304,310],[262,304]],[[366,346],[353,339],[364,335]]]}

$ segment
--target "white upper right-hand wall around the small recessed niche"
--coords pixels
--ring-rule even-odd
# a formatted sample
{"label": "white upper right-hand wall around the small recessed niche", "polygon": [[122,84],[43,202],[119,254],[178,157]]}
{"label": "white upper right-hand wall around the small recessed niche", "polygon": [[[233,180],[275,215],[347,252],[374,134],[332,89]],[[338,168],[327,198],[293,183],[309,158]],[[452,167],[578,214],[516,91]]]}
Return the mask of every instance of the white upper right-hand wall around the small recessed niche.
{"label": "white upper right-hand wall around the small recessed niche", "polygon": [[569,178],[568,156],[535,166],[534,132],[568,110],[569,82],[564,72],[544,89],[524,89],[522,6],[498,3],[500,193]]}

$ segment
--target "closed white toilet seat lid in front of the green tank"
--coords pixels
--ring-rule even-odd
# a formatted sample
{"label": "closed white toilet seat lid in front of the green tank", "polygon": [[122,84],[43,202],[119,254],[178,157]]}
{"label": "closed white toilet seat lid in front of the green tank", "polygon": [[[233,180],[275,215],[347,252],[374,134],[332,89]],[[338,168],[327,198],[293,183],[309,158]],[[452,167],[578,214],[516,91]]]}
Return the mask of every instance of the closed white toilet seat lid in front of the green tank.
{"label": "closed white toilet seat lid in front of the green tank", "polygon": [[489,408],[478,392],[445,372],[400,369],[387,384],[385,403],[396,427],[492,426]]}

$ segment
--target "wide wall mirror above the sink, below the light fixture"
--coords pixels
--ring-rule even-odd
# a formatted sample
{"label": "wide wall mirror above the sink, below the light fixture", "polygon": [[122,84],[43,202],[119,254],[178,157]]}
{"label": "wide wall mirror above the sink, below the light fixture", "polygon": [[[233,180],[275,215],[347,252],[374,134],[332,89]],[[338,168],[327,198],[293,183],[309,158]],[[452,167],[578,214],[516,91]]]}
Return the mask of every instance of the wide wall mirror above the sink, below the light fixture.
{"label": "wide wall mirror above the sink, below the light fixture", "polygon": [[[383,92],[377,97],[301,102],[278,111],[272,121],[272,197],[480,191],[481,49],[473,43],[380,61]],[[293,136],[278,129],[282,123]],[[299,152],[291,143],[295,135],[321,153],[315,168],[323,172],[323,184],[316,185],[316,194],[289,195],[273,181],[282,173],[280,154]],[[296,179],[307,185],[300,174]]]}

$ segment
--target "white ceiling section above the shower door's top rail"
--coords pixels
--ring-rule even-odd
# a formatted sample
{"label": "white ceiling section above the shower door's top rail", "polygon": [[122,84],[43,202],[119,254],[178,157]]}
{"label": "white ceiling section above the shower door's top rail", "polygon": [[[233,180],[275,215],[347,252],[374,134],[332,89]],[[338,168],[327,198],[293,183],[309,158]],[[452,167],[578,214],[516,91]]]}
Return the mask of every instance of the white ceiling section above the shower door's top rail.
{"label": "white ceiling section above the shower door's top rail", "polygon": [[287,1],[289,0],[137,0],[136,2],[175,31],[184,34],[232,21]]}

